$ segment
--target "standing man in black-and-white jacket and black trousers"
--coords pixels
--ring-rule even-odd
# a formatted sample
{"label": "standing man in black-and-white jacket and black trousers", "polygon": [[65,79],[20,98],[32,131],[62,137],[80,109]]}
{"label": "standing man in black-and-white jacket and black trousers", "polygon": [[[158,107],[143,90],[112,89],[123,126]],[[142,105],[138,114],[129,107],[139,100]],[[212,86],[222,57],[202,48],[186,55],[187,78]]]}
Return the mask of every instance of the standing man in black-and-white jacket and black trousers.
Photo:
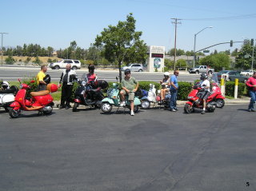
{"label": "standing man in black-and-white jacket and black trousers", "polygon": [[59,81],[58,87],[62,86],[62,97],[61,97],[61,105],[59,109],[70,109],[70,97],[72,95],[72,89],[74,82],[77,81],[78,78],[74,70],[71,70],[71,65],[66,65],[66,70],[63,70],[61,79]]}

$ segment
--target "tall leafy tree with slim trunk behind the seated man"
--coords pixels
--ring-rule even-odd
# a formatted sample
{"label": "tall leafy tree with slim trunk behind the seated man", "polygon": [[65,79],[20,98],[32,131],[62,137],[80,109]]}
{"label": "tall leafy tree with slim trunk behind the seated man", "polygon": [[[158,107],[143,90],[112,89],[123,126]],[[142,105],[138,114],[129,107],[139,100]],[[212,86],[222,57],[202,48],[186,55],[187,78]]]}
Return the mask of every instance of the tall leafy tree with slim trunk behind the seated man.
{"label": "tall leafy tree with slim trunk behind the seated man", "polygon": [[108,26],[95,38],[95,46],[103,48],[103,54],[109,62],[118,62],[119,78],[122,79],[122,62],[145,62],[147,46],[140,37],[142,32],[135,31],[136,20],[133,14],[126,16],[125,22],[117,26]]}

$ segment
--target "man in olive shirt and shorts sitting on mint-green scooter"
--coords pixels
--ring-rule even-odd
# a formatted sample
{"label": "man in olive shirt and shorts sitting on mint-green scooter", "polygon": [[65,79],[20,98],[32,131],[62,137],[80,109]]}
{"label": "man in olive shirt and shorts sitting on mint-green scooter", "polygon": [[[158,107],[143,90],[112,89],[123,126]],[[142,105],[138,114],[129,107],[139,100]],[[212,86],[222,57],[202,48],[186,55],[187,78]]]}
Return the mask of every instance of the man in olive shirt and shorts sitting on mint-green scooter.
{"label": "man in olive shirt and shorts sitting on mint-green scooter", "polygon": [[120,106],[126,105],[125,95],[128,94],[128,100],[130,101],[130,115],[134,116],[134,95],[138,90],[138,82],[135,78],[130,76],[130,70],[125,70],[125,78],[121,81],[122,90],[120,91]]}

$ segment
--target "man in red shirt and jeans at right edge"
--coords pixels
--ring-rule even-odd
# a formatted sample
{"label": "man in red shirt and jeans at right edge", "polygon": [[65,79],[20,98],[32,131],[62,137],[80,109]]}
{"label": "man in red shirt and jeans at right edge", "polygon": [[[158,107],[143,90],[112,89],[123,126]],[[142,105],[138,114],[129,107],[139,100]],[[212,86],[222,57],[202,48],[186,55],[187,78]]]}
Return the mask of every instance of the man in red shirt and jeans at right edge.
{"label": "man in red shirt and jeans at right edge", "polygon": [[250,104],[248,111],[254,112],[254,103],[256,101],[256,72],[254,72],[253,76],[250,77],[247,82],[246,86],[249,88],[249,95],[250,95]]}

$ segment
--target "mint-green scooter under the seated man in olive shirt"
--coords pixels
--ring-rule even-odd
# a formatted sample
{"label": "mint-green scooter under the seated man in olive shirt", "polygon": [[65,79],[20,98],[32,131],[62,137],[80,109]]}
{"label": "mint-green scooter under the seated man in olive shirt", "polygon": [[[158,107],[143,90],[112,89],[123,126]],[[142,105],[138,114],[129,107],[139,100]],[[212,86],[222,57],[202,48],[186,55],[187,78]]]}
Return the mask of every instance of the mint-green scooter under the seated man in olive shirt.
{"label": "mint-green scooter under the seated man in olive shirt", "polygon": [[[120,107],[120,96],[119,96],[119,88],[118,88],[118,83],[113,83],[113,88],[110,88],[107,90],[107,97],[102,99],[102,111],[104,113],[110,113],[110,111],[114,106],[117,106],[118,109]],[[141,101],[138,99],[138,97],[134,97],[134,113],[138,112],[138,106],[141,105]],[[128,95],[126,95],[126,105],[124,108],[129,108],[130,109],[130,101],[128,100]],[[117,111],[118,111],[117,109]]]}

